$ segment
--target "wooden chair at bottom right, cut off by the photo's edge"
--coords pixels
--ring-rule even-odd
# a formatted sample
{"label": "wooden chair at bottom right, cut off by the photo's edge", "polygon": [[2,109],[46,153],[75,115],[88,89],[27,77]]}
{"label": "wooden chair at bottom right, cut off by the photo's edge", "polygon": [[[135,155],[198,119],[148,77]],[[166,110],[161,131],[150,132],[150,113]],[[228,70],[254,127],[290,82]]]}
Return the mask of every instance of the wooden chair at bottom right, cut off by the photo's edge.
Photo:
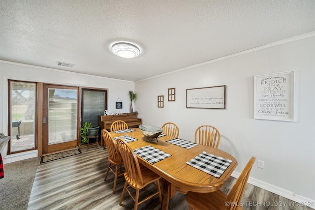
{"label": "wooden chair at bottom right, cut off by the photo's edge", "polygon": [[252,156],[227,195],[221,190],[210,193],[188,192],[186,201],[189,204],[189,210],[241,210],[240,202],[255,159]]}

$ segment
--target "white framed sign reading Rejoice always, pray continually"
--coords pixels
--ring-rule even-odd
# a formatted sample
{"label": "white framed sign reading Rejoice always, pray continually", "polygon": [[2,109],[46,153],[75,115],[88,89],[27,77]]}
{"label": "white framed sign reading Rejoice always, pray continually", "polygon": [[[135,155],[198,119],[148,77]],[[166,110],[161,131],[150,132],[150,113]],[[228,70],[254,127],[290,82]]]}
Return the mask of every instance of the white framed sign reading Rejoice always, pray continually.
{"label": "white framed sign reading Rejoice always, pray continually", "polygon": [[254,118],[294,121],[295,71],[254,76]]}

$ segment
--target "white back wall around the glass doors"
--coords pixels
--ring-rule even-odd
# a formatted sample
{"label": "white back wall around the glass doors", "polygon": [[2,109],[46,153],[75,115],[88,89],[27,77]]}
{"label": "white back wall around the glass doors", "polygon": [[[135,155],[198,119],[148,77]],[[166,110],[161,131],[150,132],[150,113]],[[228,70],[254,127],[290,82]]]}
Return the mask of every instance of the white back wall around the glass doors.
{"label": "white back wall around the glass doors", "polygon": [[[115,111],[115,102],[118,98],[120,98],[121,101],[123,101],[123,109],[117,109],[117,111],[121,111],[123,113],[130,112],[130,99],[128,91],[134,90],[134,82],[130,81],[78,74],[0,60],[0,133],[4,133],[6,135],[8,135],[8,79],[85,88],[91,87],[108,89],[108,109],[110,111]],[[30,152],[25,152],[22,154],[19,153],[18,155],[18,157],[16,157],[17,155],[6,156],[5,149],[2,154],[4,157],[3,162],[8,163],[20,160],[21,158],[30,158],[34,155],[36,156],[36,152],[34,153],[31,151],[31,154]]]}

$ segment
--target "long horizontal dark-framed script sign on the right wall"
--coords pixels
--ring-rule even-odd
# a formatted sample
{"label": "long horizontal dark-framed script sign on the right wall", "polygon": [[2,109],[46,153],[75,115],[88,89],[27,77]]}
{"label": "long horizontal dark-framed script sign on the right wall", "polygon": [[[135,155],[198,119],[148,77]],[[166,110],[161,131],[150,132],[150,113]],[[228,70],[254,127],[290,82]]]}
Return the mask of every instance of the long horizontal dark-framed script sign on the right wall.
{"label": "long horizontal dark-framed script sign on the right wall", "polygon": [[225,109],[225,85],[187,89],[186,108]]}

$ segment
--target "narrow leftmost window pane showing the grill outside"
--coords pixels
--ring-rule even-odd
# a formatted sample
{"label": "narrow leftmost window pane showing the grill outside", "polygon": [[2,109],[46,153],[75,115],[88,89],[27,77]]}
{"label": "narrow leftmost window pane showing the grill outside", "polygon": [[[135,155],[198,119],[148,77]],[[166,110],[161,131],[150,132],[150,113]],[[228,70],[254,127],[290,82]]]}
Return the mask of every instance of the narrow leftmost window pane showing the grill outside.
{"label": "narrow leftmost window pane showing the grill outside", "polygon": [[35,149],[36,83],[9,80],[9,152]]}

